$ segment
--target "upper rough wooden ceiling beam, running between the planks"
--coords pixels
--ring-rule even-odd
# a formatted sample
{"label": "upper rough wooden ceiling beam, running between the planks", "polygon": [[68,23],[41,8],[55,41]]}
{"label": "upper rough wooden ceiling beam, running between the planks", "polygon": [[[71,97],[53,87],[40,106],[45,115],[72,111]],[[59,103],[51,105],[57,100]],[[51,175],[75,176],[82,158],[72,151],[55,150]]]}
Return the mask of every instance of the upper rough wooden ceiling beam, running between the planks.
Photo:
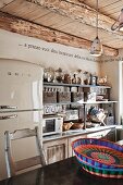
{"label": "upper rough wooden ceiling beam, running between the planks", "polygon": [[[96,27],[97,17],[96,10],[88,7],[87,4],[84,4],[79,0],[26,0],[26,1],[47,8],[61,15],[71,17],[74,21],[78,21],[79,23]],[[122,40],[123,33],[111,30],[111,25],[113,23],[114,23],[113,18],[102,13],[98,13],[98,28]]]}

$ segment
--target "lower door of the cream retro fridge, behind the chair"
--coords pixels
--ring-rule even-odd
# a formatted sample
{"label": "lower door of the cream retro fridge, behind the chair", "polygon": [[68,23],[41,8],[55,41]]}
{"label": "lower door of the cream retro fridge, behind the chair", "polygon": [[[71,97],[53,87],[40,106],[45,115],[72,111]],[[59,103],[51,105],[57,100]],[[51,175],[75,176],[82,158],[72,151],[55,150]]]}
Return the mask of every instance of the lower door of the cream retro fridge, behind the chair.
{"label": "lower door of the cream retro fridge, behind the chair", "polygon": [[[41,111],[0,113],[0,180],[7,178],[7,166],[4,157],[4,132],[12,132],[15,130],[28,127],[34,128],[38,125],[40,132],[40,141],[42,141],[41,115]],[[26,159],[36,156],[35,138],[20,139],[13,143],[13,151],[15,151],[16,153],[14,156],[15,160]]]}

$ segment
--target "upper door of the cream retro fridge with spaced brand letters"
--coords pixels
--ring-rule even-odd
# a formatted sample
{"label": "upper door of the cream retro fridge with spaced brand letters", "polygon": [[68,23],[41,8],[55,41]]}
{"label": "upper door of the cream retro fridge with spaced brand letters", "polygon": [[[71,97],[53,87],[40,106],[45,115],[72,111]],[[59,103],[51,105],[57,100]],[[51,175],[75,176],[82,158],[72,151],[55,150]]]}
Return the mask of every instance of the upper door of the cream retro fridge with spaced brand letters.
{"label": "upper door of the cream retro fridge with spaced brand letters", "polygon": [[0,60],[0,111],[42,109],[42,69],[33,63]]}

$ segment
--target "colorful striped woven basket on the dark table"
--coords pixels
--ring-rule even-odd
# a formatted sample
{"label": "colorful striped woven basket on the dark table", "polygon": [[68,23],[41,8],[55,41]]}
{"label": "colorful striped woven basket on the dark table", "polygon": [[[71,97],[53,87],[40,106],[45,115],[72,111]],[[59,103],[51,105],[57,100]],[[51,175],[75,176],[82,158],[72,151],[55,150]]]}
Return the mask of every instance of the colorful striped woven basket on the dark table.
{"label": "colorful striped woven basket on the dark table", "polygon": [[123,178],[122,146],[104,139],[81,138],[72,143],[72,148],[87,172],[103,177]]}

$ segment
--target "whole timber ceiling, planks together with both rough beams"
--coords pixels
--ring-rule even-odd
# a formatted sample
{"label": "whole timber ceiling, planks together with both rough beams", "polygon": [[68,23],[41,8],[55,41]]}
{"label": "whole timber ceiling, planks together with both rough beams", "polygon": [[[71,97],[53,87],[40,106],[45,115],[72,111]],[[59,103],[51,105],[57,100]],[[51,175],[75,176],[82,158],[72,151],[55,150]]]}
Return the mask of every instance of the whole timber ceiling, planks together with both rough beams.
{"label": "whole timber ceiling, planks together with both rough beams", "polygon": [[[99,1],[99,10],[104,10],[103,5],[107,7],[108,3],[109,1]],[[121,2],[116,3],[120,5]],[[96,2],[89,0],[2,0],[0,2],[0,11],[8,13],[4,14],[4,20],[9,14],[13,15],[20,22],[23,20],[25,21],[24,23],[32,24],[34,27],[37,26],[37,33],[39,32],[38,26],[40,26],[40,32],[44,33],[45,29],[49,32],[49,38],[45,38],[42,33],[42,36],[36,35],[34,30],[28,30],[28,34],[26,34],[26,32],[21,28],[21,33],[17,28],[16,30],[13,28],[13,24],[11,24],[10,28],[5,28],[3,24],[0,25],[0,27],[46,41],[89,50],[91,40],[94,40],[96,36],[95,9]],[[116,55],[118,49],[123,48],[123,33],[111,30],[111,25],[114,23],[114,20],[104,15],[103,12],[104,11],[99,12],[98,16],[99,38],[103,45],[104,54]],[[21,26],[22,25],[21,23]],[[56,34],[52,36],[51,33]]]}

